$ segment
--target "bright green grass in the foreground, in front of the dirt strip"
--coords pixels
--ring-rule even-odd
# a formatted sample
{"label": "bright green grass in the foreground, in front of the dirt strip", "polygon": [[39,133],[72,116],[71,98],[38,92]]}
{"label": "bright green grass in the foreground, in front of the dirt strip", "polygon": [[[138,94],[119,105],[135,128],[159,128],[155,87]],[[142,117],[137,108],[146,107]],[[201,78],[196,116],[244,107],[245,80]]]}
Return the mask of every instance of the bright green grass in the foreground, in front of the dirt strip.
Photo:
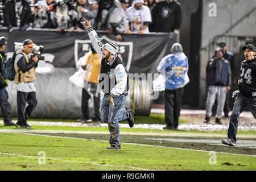
{"label": "bright green grass in the foreground, in front of the dirt strip", "polygon": [[[122,144],[107,150],[108,142],[0,133],[0,170],[255,170],[253,156],[216,154],[168,147]],[[46,164],[39,165],[39,151]],[[6,155],[19,154],[25,156]]]}

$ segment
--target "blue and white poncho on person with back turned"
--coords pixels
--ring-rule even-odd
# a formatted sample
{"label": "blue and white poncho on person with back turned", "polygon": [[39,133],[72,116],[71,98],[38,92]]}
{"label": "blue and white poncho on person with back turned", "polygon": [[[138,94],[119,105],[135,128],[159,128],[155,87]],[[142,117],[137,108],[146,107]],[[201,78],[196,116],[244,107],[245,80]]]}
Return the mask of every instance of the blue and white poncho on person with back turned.
{"label": "blue and white poncho on person with back turned", "polygon": [[188,84],[188,58],[179,43],[171,48],[171,54],[164,56],[156,68],[160,75],[152,82],[154,91],[175,90]]}

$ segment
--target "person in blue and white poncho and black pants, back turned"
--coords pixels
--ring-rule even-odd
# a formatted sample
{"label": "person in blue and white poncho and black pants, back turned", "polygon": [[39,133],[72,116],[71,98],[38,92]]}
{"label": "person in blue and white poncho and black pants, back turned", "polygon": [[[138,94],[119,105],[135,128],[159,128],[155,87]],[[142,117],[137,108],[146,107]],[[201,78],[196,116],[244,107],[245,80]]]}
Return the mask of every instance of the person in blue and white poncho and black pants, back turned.
{"label": "person in blue and white poncho and black pants, back turned", "polygon": [[175,43],[171,54],[164,56],[157,71],[158,78],[153,81],[154,91],[164,90],[165,122],[163,129],[177,130],[181,110],[183,88],[188,84],[188,58],[181,44]]}

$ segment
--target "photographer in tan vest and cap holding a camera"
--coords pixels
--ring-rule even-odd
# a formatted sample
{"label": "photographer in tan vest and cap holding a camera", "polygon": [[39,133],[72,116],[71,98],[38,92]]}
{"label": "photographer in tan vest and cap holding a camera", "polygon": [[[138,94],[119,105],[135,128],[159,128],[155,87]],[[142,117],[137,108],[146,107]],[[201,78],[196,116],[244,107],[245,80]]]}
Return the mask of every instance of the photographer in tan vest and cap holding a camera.
{"label": "photographer in tan vest and cap holding a camera", "polygon": [[[36,89],[34,80],[36,77],[35,68],[38,66],[38,56],[32,57],[30,53],[35,46],[30,39],[23,42],[23,50],[17,52],[15,57],[15,84],[18,84],[17,92],[17,107],[18,107],[18,122],[16,127],[31,127],[27,123],[32,111],[35,110],[38,101],[36,100]],[[28,106],[26,107],[26,103]]]}

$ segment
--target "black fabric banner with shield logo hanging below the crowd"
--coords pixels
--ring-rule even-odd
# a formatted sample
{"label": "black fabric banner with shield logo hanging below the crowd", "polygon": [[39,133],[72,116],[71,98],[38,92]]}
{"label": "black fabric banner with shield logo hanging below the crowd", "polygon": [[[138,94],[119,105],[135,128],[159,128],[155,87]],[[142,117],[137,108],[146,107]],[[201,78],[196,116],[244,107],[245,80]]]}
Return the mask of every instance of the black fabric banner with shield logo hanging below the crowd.
{"label": "black fabric banner with shield logo hanging below the crowd", "polygon": [[[90,40],[86,32],[57,31],[19,31],[9,32],[0,30],[0,36],[6,36],[6,52],[14,51],[14,42],[22,43],[25,39],[31,39],[38,46],[44,46],[44,54],[53,60],[47,60],[54,67],[76,67],[77,61],[86,52],[90,51]],[[114,42],[112,34],[98,32],[103,43]],[[123,41],[117,42],[118,55],[126,64],[129,73],[155,73],[156,67],[162,57],[170,53],[170,48],[176,42],[175,34],[150,34],[150,35],[122,35]],[[52,55],[52,56],[49,56]]]}

